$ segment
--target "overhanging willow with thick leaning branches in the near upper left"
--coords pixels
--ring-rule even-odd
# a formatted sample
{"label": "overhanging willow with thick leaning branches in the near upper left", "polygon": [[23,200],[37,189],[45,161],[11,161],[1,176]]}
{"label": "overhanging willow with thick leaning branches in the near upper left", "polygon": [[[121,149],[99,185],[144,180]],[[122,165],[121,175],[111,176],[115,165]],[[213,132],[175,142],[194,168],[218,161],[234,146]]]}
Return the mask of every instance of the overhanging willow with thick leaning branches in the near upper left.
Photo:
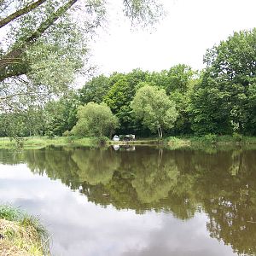
{"label": "overhanging willow with thick leaning branches in the near upper left", "polygon": [[[134,25],[150,25],[161,15],[158,1],[122,2]],[[1,0],[0,108],[66,91],[86,71],[87,39],[106,20],[107,7],[104,0]]]}

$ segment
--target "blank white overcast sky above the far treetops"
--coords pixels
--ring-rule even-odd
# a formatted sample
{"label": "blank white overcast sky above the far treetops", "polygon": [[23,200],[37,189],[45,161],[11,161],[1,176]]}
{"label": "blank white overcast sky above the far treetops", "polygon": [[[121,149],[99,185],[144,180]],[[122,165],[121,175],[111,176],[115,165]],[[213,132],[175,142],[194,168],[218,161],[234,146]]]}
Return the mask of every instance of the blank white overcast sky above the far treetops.
{"label": "blank white overcast sky above the far treetops", "polygon": [[[160,71],[178,63],[203,67],[208,48],[241,29],[256,26],[255,0],[162,0],[168,14],[153,32],[131,32],[113,19],[92,44],[99,73]],[[114,8],[113,8],[114,9]],[[112,15],[115,12],[112,11]]]}

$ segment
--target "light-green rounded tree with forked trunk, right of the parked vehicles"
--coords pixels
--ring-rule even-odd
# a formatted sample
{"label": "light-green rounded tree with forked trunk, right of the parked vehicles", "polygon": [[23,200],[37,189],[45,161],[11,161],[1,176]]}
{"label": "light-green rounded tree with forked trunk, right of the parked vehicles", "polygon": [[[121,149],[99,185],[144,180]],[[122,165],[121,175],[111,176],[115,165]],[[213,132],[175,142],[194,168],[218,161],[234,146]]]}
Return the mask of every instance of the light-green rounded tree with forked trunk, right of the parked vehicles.
{"label": "light-green rounded tree with forked trunk, right of the parked vehicles", "polygon": [[137,90],[131,108],[136,118],[151,131],[157,131],[159,137],[163,137],[163,130],[172,128],[177,119],[175,103],[166,96],[165,90],[156,86],[145,84]]}

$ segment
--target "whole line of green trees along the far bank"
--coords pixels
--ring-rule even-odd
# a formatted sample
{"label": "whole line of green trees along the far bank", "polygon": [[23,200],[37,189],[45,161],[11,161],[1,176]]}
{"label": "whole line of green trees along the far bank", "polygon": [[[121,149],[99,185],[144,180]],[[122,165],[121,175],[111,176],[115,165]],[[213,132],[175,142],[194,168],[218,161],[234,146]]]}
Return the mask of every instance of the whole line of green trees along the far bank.
{"label": "whole line of green trees along the far bank", "polygon": [[234,32],[207,50],[200,72],[178,64],[161,72],[99,75],[57,101],[3,113],[0,136],[255,136],[255,45],[256,29]]}

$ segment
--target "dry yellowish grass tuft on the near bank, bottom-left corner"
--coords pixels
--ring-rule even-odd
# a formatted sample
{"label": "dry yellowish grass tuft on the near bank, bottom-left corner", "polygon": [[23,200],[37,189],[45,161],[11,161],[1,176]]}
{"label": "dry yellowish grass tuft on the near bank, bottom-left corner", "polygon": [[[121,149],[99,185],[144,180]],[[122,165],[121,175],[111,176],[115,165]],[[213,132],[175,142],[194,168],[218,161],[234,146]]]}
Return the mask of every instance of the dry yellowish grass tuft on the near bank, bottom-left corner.
{"label": "dry yellowish grass tuft on the near bank, bottom-left corner", "polygon": [[49,255],[49,236],[38,218],[0,206],[0,255]]}

